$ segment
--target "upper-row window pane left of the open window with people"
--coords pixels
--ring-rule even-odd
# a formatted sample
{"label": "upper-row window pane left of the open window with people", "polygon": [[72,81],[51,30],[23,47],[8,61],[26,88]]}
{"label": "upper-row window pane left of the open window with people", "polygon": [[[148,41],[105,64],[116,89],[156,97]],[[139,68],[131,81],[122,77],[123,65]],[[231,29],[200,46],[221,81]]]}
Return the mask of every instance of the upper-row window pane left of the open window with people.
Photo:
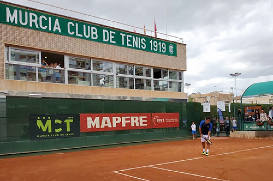
{"label": "upper-row window pane left of the open window with people", "polygon": [[40,63],[39,52],[11,48],[11,60],[29,63]]}

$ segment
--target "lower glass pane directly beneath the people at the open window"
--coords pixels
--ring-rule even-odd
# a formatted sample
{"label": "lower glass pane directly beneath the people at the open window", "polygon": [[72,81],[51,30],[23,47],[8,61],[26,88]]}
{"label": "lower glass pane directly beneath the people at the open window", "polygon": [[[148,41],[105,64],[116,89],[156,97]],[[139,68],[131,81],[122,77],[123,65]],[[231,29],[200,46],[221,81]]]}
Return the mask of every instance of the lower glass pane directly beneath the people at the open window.
{"label": "lower glass pane directly beneath the people at the open window", "polygon": [[38,81],[64,84],[65,70],[38,67]]}

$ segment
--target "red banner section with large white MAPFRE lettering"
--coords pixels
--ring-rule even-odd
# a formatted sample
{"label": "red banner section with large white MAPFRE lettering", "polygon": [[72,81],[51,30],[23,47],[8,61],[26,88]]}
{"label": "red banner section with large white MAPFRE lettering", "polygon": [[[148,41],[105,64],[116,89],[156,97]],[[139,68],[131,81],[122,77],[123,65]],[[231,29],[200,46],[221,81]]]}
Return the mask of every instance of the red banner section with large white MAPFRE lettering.
{"label": "red banner section with large white MAPFRE lettering", "polygon": [[151,113],[80,114],[81,132],[152,128]]}

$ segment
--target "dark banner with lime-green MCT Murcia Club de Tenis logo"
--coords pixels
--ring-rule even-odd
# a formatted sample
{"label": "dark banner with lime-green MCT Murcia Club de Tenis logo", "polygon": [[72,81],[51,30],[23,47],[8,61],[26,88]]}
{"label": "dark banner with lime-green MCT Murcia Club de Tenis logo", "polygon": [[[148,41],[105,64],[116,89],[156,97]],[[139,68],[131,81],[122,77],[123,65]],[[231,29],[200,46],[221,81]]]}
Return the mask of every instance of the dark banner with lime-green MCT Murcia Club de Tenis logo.
{"label": "dark banner with lime-green MCT Murcia Club de Tenis logo", "polygon": [[30,114],[30,140],[80,136],[79,114]]}

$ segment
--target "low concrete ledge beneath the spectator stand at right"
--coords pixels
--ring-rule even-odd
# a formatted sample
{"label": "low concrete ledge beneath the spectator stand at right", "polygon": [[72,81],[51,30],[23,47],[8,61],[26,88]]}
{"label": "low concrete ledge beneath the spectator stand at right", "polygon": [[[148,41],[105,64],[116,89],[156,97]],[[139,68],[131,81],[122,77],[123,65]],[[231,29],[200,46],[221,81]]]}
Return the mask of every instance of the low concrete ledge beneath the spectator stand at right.
{"label": "low concrete ledge beneath the spectator stand at right", "polygon": [[272,139],[273,131],[234,131],[230,132],[230,137],[244,139]]}

